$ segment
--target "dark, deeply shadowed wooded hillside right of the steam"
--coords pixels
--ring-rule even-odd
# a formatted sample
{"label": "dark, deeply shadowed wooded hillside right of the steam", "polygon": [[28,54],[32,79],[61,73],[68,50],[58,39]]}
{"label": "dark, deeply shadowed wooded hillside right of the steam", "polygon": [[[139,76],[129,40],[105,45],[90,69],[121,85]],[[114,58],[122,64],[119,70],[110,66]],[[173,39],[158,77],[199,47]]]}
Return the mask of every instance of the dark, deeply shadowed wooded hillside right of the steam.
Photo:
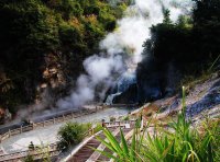
{"label": "dark, deeply shadowed wooded hillside right of the steam", "polygon": [[142,102],[172,95],[187,80],[218,67],[219,0],[194,0],[191,13],[177,22],[170,21],[168,9],[163,13],[163,22],[151,27],[152,36],[143,45],[145,59],[138,68]]}

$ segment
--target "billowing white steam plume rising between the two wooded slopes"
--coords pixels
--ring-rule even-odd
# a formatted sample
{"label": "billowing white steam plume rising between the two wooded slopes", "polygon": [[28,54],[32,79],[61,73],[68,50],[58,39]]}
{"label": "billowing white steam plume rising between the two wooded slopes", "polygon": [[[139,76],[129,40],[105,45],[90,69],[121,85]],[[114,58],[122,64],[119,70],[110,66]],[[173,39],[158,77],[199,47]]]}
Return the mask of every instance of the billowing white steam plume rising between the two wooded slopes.
{"label": "billowing white steam plume rising between the two wooded slopes", "polygon": [[[190,0],[135,0],[124,12],[124,16],[117,22],[118,27],[100,42],[100,49],[106,55],[94,55],[84,61],[87,74],[77,79],[77,86],[72,94],[57,102],[59,108],[77,108],[95,100],[97,88],[103,99],[106,91],[116,81],[116,76],[123,72],[134,72],[136,63],[141,61],[143,43],[151,37],[150,27],[163,21],[163,8],[170,11],[170,20],[177,21],[180,14],[190,11]],[[127,54],[123,57],[121,54]]]}

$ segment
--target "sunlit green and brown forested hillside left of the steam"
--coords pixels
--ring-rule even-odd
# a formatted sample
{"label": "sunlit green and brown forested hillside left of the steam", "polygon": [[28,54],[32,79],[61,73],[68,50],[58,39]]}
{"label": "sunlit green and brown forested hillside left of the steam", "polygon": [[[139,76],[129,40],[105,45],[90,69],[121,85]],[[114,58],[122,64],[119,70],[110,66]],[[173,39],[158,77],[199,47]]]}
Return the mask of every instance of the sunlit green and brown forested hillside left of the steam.
{"label": "sunlit green and brown forested hillside left of the steam", "polygon": [[28,104],[41,89],[67,88],[84,70],[82,60],[116,28],[129,1],[0,1],[0,107]]}

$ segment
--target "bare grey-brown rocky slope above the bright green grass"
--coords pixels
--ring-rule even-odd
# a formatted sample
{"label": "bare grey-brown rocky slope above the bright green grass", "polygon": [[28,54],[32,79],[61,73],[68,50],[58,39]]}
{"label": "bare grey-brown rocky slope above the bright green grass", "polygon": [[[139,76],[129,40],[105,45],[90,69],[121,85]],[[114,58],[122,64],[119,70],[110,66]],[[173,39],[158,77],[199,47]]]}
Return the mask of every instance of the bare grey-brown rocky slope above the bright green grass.
{"label": "bare grey-brown rocky slope above the bright green grass", "polygon": [[[201,113],[209,116],[220,115],[220,71],[211,74],[206,81],[198,80],[194,86],[186,86],[186,115],[196,117]],[[176,94],[154,102],[164,112],[161,117],[174,114],[182,109],[182,95]]]}

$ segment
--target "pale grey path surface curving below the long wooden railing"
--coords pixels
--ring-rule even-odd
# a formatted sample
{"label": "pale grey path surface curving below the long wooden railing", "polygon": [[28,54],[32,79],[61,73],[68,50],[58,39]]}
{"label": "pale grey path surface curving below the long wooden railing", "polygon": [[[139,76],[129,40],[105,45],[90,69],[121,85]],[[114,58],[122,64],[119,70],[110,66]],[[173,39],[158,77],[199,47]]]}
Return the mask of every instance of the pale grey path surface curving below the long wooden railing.
{"label": "pale grey path surface curving below the long wooden railing", "polygon": [[[96,114],[85,115],[80,118],[74,118],[72,121],[96,123],[100,121],[101,119],[109,120],[110,116],[122,116],[127,115],[128,113],[129,109],[108,108]],[[11,138],[2,141],[0,148],[2,148],[6,153],[12,153],[21,150],[26,150],[31,141],[33,141],[34,144],[41,146],[55,142],[57,141],[57,131],[65,123],[23,132],[18,136],[12,136]]]}

